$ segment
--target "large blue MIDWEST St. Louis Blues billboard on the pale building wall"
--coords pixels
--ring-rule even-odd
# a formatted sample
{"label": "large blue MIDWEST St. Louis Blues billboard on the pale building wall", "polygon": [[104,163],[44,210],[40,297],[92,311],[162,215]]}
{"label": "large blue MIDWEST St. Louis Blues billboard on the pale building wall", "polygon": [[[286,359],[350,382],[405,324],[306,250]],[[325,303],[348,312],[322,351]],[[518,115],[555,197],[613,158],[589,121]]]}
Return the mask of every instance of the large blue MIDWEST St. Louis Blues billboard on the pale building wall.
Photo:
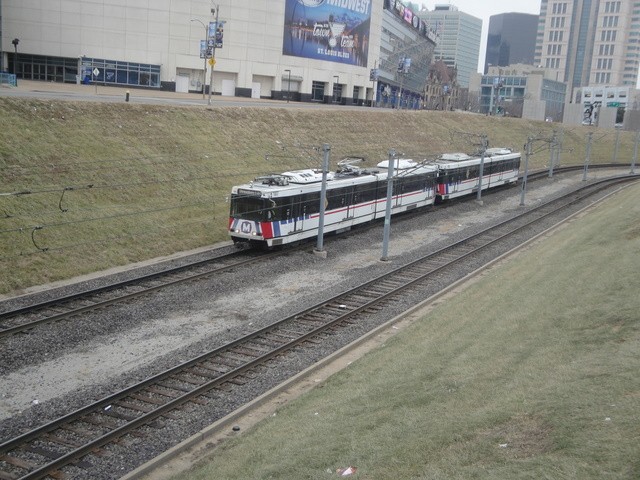
{"label": "large blue MIDWEST St. Louis Blues billboard on the pale building wall", "polygon": [[367,66],[372,0],[286,0],[283,55]]}

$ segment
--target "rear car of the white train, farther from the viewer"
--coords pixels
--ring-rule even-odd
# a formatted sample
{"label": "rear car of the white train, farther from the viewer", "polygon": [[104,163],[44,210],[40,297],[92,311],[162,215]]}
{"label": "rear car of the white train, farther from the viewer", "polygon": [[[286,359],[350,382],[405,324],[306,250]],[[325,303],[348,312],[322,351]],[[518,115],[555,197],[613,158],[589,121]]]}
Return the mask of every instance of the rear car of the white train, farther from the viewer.
{"label": "rear car of the white train, farther from the viewer", "polygon": [[478,191],[482,163],[482,190],[518,181],[521,154],[508,148],[489,148],[481,155],[443,154],[438,165],[436,195],[439,200],[469,195]]}

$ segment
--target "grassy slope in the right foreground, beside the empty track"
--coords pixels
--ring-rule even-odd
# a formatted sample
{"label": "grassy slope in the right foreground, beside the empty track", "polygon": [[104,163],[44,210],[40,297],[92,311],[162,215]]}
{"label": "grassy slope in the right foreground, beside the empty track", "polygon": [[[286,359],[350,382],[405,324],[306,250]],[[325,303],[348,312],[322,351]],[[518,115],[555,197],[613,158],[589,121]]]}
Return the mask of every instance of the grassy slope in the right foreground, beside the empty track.
{"label": "grassy slope in the right foreground, beside the empty track", "polygon": [[639,194],[492,268],[176,478],[640,478]]}

